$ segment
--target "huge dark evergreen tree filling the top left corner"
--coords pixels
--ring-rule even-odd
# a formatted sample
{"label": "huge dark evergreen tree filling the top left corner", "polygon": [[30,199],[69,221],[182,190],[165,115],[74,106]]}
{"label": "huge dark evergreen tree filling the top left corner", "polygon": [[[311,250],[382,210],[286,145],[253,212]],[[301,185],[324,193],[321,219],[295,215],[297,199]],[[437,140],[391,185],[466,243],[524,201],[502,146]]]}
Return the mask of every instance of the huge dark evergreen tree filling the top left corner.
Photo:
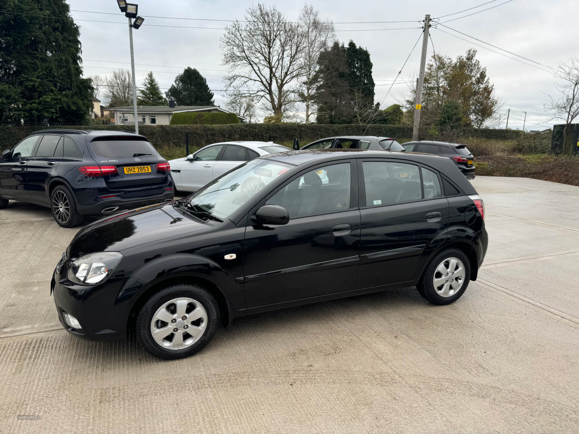
{"label": "huge dark evergreen tree filling the top left corner", "polygon": [[2,0],[0,9],[0,120],[85,123],[92,89],[67,3]]}

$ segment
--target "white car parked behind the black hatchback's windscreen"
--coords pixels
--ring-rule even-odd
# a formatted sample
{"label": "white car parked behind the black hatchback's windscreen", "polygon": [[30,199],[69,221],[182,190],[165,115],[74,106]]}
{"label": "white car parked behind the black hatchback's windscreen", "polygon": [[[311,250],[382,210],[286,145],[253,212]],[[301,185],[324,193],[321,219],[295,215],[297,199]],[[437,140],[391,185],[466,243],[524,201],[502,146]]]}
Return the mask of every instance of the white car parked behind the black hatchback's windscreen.
{"label": "white car parked behind the black hatchback's windscreen", "polygon": [[196,192],[207,183],[245,161],[289,151],[273,142],[222,142],[199,149],[184,158],[170,160],[171,175],[179,192]]}

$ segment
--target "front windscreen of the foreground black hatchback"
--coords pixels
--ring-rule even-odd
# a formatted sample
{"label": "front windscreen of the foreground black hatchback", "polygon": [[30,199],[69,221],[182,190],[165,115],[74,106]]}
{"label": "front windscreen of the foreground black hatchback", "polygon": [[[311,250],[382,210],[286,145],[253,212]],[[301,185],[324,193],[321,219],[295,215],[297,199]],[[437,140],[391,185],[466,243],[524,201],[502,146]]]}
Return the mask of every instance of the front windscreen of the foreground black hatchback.
{"label": "front windscreen of the foreground black hatchback", "polygon": [[248,161],[193,194],[186,208],[201,219],[223,220],[292,167],[277,161]]}

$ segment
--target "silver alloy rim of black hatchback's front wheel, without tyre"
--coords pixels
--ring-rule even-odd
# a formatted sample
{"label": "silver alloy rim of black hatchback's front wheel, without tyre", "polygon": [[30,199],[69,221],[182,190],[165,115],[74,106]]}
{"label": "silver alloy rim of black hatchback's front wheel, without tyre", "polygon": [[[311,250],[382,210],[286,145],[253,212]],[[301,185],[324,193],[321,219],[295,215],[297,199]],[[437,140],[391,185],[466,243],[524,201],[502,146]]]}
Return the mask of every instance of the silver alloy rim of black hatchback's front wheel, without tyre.
{"label": "silver alloy rim of black hatchback's front wheel, without tyre", "polygon": [[151,335],[168,350],[183,350],[196,343],[207,328],[207,312],[197,300],[179,297],[159,307],[151,320]]}

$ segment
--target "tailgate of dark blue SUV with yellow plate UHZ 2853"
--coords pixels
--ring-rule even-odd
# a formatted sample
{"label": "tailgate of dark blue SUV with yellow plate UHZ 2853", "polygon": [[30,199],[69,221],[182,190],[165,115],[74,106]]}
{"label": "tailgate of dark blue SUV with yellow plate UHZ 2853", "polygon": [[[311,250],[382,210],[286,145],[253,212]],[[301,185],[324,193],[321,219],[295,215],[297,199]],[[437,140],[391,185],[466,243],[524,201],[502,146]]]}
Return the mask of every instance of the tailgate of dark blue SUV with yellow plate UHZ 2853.
{"label": "tailgate of dark blue SUV with yellow plate UHZ 2853", "polygon": [[90,147],[98,165],[116,168],[116,174],[104,176],[111,190],[162,185],[171,176],[166,166],[157,167],[167,160],[144,137],[97,137],[90,142]]}

